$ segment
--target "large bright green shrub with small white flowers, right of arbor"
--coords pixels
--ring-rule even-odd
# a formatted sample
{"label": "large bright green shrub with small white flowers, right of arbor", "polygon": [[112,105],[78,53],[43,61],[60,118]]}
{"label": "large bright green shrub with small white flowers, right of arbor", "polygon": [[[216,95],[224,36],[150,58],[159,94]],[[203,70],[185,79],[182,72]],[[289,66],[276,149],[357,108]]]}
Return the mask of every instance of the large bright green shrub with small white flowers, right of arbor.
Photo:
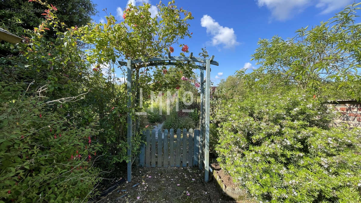
{"label": "large bright green shrub with small white flowers, right of arbor", "polygon": [[255,93],[218,109],[218,161],[256,199],[360,202],[361,130],[328,128],[318,98]]}

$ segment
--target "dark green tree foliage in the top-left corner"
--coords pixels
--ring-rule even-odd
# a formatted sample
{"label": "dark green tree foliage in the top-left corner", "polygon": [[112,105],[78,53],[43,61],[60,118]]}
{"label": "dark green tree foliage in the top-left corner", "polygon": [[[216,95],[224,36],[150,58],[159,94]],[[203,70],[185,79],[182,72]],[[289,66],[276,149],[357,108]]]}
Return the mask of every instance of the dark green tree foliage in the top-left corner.
{"label": "dark green tree foliage in the top-left corner", "polygon": [[[47,3],[57,8],[57,17],[69,28],[90,23],[91,16],[97,13],[96,4],[91,0],[48,0]],[[48,9],[47,4],[36,4],[25,0],[2,0],[1,6],[0,26],[17,35],[22,35],[24,29],[32,30],[41,24],[44,20],[42,13]],[[47,33],[49,39],[53,34],[55,33],[51,35]]]}

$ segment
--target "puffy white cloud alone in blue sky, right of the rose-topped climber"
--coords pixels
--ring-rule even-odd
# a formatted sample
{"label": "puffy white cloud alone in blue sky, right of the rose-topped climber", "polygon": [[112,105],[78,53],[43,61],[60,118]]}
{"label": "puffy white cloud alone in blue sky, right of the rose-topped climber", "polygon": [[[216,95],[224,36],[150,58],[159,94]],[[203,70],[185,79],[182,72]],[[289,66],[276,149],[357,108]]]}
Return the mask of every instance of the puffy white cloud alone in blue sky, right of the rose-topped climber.
{"label": "puffy white cloud alone in blue sky, right of the rose-topped climber", "polygon": [[201,18],[201,26],[205,27],[207,33],[213,36],[213,46],[223,44],[225,48],[232,48],[239,44],[233,28],[219,25],[218,22],[208,15],[204,15]]}

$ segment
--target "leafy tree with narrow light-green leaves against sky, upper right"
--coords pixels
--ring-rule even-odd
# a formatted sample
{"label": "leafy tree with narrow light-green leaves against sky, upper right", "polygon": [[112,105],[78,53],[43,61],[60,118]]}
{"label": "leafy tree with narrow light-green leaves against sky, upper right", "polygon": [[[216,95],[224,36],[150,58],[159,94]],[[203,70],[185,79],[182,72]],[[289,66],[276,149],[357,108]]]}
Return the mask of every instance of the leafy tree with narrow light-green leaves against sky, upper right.
{"label": "leafy tree with narrow light-green leaves against sky, upper right", "polygon": [[330,99],[361,100],[358,5],[352,4],[321,25],[297,30],[291,39],[259,40],[252,60],[260,67],[246,75],[241,70],[239,76],[264,89],[286,83]]}

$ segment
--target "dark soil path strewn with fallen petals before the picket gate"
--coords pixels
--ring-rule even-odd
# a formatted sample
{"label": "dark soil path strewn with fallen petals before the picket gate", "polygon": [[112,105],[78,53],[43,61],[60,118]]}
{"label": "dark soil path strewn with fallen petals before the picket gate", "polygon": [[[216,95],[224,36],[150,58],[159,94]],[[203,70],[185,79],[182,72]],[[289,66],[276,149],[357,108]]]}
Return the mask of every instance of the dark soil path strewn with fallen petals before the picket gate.
{"label": "dark soil path strewn with fallen petals before the picket gate", "polygon": [[[96,202],[110,203],[250,203],[250,200],[226,199],[217,189],[217,182],[204,183],[204,172],[197,168],[138,168],[132,182]],[[139,198],[139,199],[138,199]]]}

